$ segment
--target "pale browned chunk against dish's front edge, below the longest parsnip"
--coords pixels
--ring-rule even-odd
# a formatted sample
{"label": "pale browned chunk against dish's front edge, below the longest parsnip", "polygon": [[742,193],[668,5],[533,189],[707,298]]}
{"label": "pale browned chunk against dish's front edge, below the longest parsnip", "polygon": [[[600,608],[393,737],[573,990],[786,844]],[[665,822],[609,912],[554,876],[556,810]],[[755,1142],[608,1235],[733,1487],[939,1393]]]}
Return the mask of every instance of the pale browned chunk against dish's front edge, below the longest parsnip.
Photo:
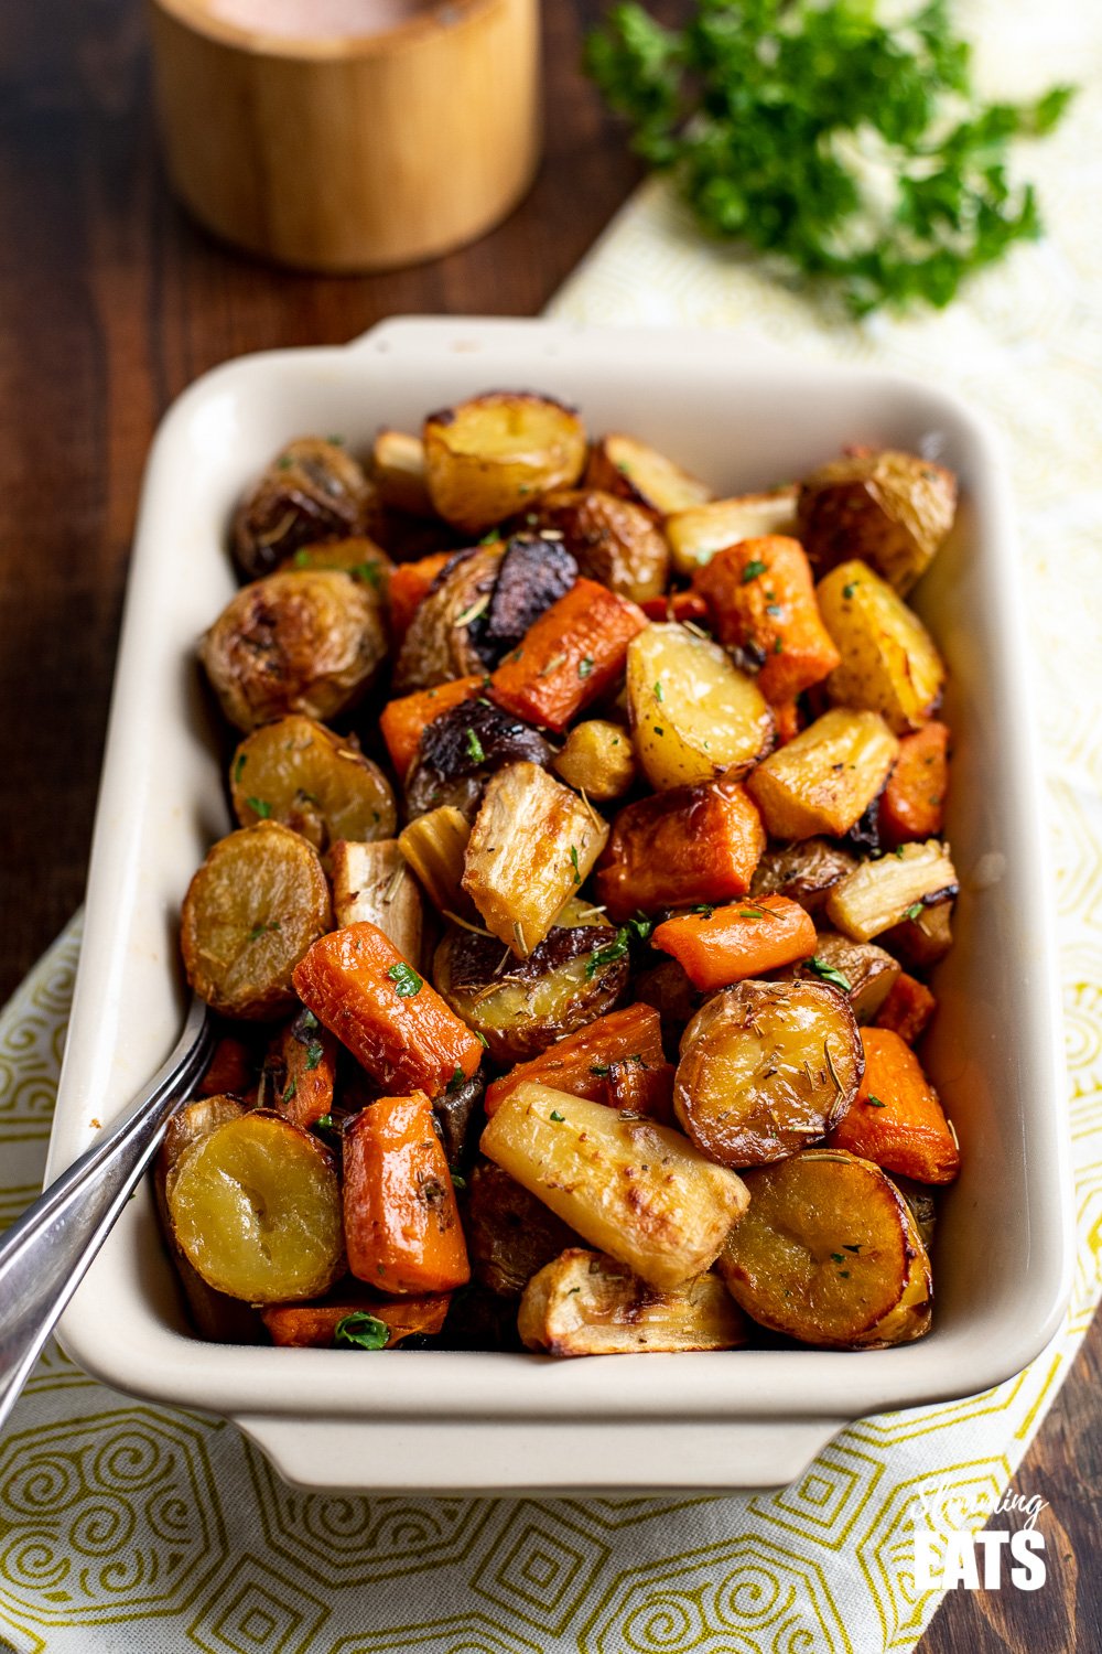
{"label": "pale browned chunk against dish's front edge, below the longest parsnip", "polygon": [[658,1292],[626,1264],[572,1247],[534,1275],[517,1320],[529,1350],[549,1355],[639,1355],[734,1350],[745,1322],[719,1275]]}

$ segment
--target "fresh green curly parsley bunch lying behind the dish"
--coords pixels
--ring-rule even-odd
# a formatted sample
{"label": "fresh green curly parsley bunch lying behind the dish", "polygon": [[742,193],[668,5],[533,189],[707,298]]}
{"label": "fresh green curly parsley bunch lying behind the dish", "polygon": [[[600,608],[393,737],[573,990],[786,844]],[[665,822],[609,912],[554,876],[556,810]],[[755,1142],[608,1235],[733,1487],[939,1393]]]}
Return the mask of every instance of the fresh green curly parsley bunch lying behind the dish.
{"label": "fresh green curly parsley bunch lying behind the dish", "polygon": [[615,5],[587,69],[704,230],[833,283],[857,316],[942,308],[1039,235],[1008,146],[1072,96],[981,104],[947,0],[891,25],[876,0],[696,0],[681,30]]}

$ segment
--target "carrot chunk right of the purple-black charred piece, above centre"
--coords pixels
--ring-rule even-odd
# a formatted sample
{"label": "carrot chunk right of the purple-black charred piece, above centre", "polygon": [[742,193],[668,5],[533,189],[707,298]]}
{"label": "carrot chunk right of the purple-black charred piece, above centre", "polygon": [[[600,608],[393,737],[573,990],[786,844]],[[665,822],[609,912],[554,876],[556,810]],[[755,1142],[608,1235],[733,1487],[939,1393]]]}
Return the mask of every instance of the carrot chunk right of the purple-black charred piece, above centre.
{"label": "carrot chunk right of the purple-black charred piece, above centre", "polygon": [[628,643],[646,615],[596,581],[575,581],[545,609],[491,678],[491,700],[507,713],[562,733],[625,670]]}

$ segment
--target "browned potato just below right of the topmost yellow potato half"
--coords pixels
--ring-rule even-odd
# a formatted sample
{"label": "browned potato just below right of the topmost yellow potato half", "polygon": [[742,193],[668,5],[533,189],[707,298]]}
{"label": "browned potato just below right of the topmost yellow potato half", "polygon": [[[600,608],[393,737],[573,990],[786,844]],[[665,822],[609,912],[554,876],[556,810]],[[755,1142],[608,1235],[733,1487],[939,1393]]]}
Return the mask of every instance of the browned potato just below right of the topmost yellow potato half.
{"label": "browned potato just below right of the topmost yellow potato half", "polygon": [[557,488],[535,508],[542,529],[562,534],[578,571],[636,604],[661,597],[669,546],[649,511],[600,488]]}

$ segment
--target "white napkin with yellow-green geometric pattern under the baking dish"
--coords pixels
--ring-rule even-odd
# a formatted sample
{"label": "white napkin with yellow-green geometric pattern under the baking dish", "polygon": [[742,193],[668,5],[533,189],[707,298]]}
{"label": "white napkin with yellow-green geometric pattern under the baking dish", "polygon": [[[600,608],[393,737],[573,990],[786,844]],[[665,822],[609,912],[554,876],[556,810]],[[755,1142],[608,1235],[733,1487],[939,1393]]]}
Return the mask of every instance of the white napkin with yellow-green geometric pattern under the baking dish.
{"label": "white napkin with yellow-green geometric pattern under the baking dish", "polygon": [[[0,1628],[20,1654],[882,1654],[930,1619],[917,1499],[929,1490],[935,1527],[983,1525],[1085,1331],[1102,1242],[1102,8],[985,0],[965,20],[991,46],[993,89],[1072,74],[1084,94],[1029,157],[1049,240],[952,311],[828,327],[702,245],[648,185],[553,313],[734,327],[805,357],[881,362],[958,387],[1001,427],[1066,987],[1079,1274],[1064,1330],[998,1389],[853,1426],[780,1494],[659,1500],[304,1495],[231,1426],[104,1389],[51,1346],[0,1437]],[[78,946],[74,923],[0,1014],[0,1222],[41,1178]],[[1061,1566],[1051,1548],[1046,1561]],[[1059,1583],[1046,1589],[1056,1603]]]}

